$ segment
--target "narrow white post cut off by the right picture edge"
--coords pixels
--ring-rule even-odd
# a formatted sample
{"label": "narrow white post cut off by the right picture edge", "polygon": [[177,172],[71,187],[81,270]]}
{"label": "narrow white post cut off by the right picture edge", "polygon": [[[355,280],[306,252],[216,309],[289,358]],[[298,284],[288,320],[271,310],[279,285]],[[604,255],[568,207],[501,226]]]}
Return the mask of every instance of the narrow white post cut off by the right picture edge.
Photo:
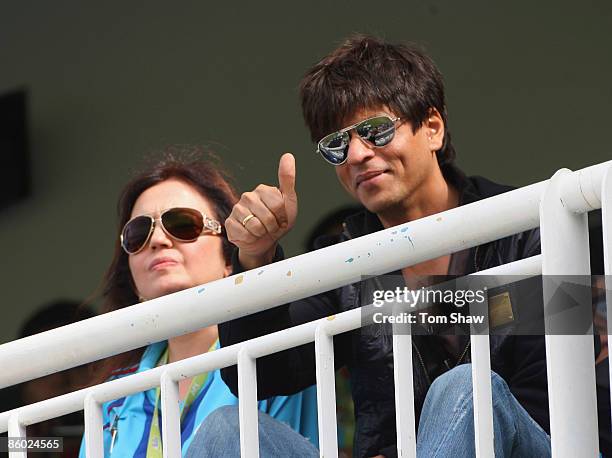
{"label": "narrow white post cut off by the right picture edge", "polygon": [[[612,342],[612,166],[608,167],[601,184],[601,226],[604,246],[604,285],[606,288],[606,315],[608,342]],[[612,364],[608,364],[612,380]],[[610,384],[612,399],[612,384]]]}

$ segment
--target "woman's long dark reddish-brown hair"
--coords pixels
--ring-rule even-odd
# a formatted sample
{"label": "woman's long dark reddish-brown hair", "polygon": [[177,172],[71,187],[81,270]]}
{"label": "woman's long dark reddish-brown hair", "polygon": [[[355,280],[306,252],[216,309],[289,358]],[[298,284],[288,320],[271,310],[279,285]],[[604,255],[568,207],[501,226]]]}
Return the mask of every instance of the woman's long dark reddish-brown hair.
{"label": "woman's long dark reddish-brown hair", "polygon": [[[221,224],[229,217],[237,202],[236,192],[229,175],[220,166],[219,160],[211,152],[200,147],[168,147],[163,151],[163,159],[143,169],[135,175],[123,189],[117,204],[119,221],[115,237],[113,260],[102,283],[102,312],[110,312],[139,302],[128,264],[128,255],[119,243],[119,234],[130,219],[134,203],[147,189],[169,179],[177,179],[193,186],[211,206]],[[233,245],[223,238],[223,256],[230,263]],[[96,369],[100,380],[105,380],[114,369],[126,368],[137,362],[142,354],[135,350],[109,358]]]}

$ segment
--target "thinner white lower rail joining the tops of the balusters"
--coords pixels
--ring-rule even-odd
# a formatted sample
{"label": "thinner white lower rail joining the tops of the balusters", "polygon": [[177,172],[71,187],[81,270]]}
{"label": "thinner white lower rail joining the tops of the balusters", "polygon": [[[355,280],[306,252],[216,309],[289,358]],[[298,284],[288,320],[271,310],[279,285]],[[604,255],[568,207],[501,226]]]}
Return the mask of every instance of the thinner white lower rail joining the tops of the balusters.
{"label": "thinner white lower rail joining the tops of the balusters", "polygon": [[[520,275],[523,273],[529,276],[538,275],[538,263],[540,263],[539,255],[493,267],[469,276],[486,272],[487,275],[491,276],[490,279],[487,280],[493,279],[496,275],[503,275],[504,277],[502,278],[506,279],[508,279],[509,276],[513,276],[512,280],[515,280],[516,278],[524,277],[524,275]],[[496,283],[495,286],[501,285]],[[8,428],[8,419],[10,415],[16,411],[19,411],[20,421],[22,421],[24,425],[31,425],[83,410],[85,398],[92,391],[95,393],[95,399],[100,403],[104,403],[123,396],[128,396],[134,392],[146,391],[159,386],[163,372],[168,373],[168,376],[172,380],[179,381],[203,372],[231,366],[236,364],[238,352],[245,345],[249,345],[249,353],[256,358],[260,358],[313,342],[315,330],[320,323],[326,323],[326,330],[331,335],[341,334],[356,329],[361,325],[361,310],[349,310],[333,317],[321,318],[273,334],[267,334],[229,347],[220,348],[213,352],[193,356],[182,361],[149,369],[121,379],[111,380],[94,387],[84,388],[72,393],[0,413],[0,433],[6,432]]]}

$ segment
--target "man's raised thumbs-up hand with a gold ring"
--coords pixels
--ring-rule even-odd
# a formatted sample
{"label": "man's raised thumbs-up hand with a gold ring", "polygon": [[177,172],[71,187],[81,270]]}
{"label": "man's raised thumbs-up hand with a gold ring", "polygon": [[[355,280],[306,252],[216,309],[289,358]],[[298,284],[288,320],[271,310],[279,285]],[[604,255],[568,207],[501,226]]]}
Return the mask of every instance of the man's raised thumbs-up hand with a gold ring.
{"label": "man's raised thumbs-up hand with a gold ring", "polygon": [[245,269],[272,262],[278,241],[295,224],[298,205],[291,153],[280,158],[278,184],[278,188],[260,184],[242,194],[225,221],[227,237],[238,247],[238,259]]}

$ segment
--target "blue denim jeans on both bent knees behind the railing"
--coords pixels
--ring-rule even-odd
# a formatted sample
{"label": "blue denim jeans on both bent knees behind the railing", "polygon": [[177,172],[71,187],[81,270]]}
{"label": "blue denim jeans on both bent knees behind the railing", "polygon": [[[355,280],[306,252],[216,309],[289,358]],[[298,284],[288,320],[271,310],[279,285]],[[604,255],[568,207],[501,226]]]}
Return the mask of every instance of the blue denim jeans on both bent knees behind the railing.
{"label": "blue denim jeans on both bent knees behind the railing", "polygon": [[[506,382],[491,373],[495,457],[551,455],[550,437],[514,398]],[[238,408],[222,407],[202,423],[187,458],[239,457]],[[261,458],[318,457],[312,444],[270,416],[259,413]],[[425,398],[417,455],[423,458],[475,456],[472,368],[458,366],[438,377]]]}

